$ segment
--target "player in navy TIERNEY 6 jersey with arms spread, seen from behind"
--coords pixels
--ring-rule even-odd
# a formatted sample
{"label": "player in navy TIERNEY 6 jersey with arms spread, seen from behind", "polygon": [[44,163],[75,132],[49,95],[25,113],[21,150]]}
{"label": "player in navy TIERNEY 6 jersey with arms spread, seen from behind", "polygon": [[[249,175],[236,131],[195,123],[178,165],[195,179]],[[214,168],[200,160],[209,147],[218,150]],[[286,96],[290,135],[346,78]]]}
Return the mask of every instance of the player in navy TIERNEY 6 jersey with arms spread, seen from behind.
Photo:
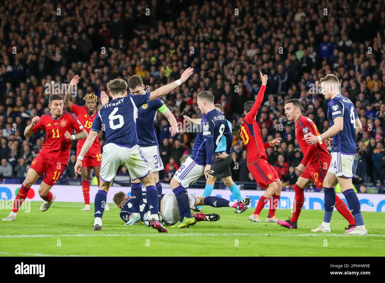
{"label": "player in navy TIERNEY 6 jersey with arms spread, seen from behind", "polygon": [[[186,81],[191,74],[192,69],[188,68],[182,75],[183,81],[172,82],[171,84],[180,85]],[[107,84],[107,88],[110,91],[112,101],[105,104],[106,101],[104,98],[106,95],[104,93],[102,103],[105,105],[100,109],[98,116],[95,118],[89,137],[85,141],[75,164],[75,174],[80,174],[83,156],[91,147],[95,137],[103,127],[106,138],[102,154],[103,162],[100,168],[101,180],[99,191],[95,195],[95,221],[92,229],[102,229],[102,216],[107,201],[107,192],[116,176],[117,168],[123,164],[127,167],[132,180],[140,179],[146,186],[147,202],[151,211],[150,226],[159,232],[167,233],[167,229],[164,228],[159,221],[159,197],[151,168],[141,148],[138,146],[136,136],[137,109],[163,94],[159,92],[157,94],[127,95],[127,83],[122,79],[111,80]],[[136,199],[136,196],[134,196],[134,198],[136,202],[140,202],[139,198]],[[139,212],[137,213],[139,214]]]}

